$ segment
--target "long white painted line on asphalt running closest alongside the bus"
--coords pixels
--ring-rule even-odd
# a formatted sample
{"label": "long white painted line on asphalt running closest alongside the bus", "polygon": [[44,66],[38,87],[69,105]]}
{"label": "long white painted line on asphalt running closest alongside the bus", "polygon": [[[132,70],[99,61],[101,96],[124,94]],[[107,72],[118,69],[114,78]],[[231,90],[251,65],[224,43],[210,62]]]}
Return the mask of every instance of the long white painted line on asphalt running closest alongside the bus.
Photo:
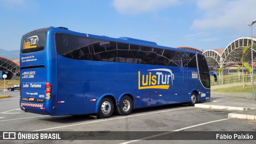
{"label": "long white painted line on asphalt running closest alongside the bus", "polygon": [[[195,108],[195,107],[191,107],[191,108]],[[185,110],[185,109],[189,109],[189,108],[180,108],[180,109],[176,109],[176,110]],[[91,123],[96,123],[96,122],[104,122],[104,121],[109,121],[109,120],[118,120],[118,119],[122,119],[122,118],[131,118],[131,117],[135,117],[135,116],[144,116],[144,115],[149,115],[149,114],[157,114],[157,113],[161,113],[161,112],[170,112],[170,111],[174,111],[174,110],[165,110],[165,111],[160,111],[160,112],[152,112],[152,113],[147,113],[147,114],[138,114],[138,115],[133,115],[133,116],[118,117],[118,118],[106,118],[104,120],[95,120],[92,122],[85,122],[85,123],[81,123],[81,124],[71,124],[71,125],[67,125],[67,126],[58,126],[58,127],[54,127],[54,128],[45,128],[45,129],[41,129],[41,130],[34,130],[33,132],[43,131],[43,130],[52,130],[52,129],[56,129],[56,128],[65,128],[65,127],[69,127],[69,126],[78,126],[78,125],[82,125],[82,124],[91,124]]]}

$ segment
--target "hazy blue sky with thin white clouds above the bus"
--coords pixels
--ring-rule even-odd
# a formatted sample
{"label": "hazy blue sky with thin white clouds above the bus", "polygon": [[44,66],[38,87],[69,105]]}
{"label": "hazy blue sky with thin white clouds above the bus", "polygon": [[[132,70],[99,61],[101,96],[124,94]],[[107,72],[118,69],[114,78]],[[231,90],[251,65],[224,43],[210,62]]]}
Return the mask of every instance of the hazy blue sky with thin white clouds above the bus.
{"label": "hazy blue sky with thin white clouds above the bus", "polygon": [[[19,50],[22,35],[49,26],[130,37],[161,46],[226,48],[250,37],[256,0],[0,0],[0,49]],[[252,26],[256,36],[256,24]]]}

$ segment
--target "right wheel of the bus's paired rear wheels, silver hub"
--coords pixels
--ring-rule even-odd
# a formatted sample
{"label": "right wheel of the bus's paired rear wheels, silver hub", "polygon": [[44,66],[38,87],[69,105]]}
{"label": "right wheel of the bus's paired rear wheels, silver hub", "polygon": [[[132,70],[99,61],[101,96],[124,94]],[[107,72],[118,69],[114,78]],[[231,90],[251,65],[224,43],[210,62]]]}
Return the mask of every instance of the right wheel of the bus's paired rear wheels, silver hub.
{"label": "right wheel of the bus's paired rear wheels, silver hub", "polygon": [[130,96],[123,96],[120,100],[120,105],[116,106],[116,112],[121,115],[129,115],[132,112],[133,103]]}

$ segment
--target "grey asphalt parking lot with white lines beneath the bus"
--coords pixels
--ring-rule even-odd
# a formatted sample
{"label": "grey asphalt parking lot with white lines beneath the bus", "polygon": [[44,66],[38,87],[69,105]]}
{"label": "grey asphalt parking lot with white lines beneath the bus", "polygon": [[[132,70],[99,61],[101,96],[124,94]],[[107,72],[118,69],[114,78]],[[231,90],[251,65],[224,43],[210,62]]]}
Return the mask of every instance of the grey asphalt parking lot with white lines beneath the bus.
{"label": "grey asphalt parking lot with white lines beneath the bus", "polygon": [[[0,92],[2,94],[2,92]],[[82,116],[44,116],[25,113],[19,108],[19,91],[8,92],[10,98],[0,99],[0,131],[7,132],[60,132],[62,140],[2,140],[1,143],[255,143],[254,140],[215,140],[216,133],[251,132],[256,138],[256,122],[228,118],[239,110],[212,110],[174,104],[133,110],[128,116],[113,115],[106,119]],[[69,133],[72,132],[72,133]],[[86,135],[78,138],[74,134]],[[80,133],[79,133],[80,132]],[[189,132],[200,136],[173,138],[174,132]],[[195,133],[194,133],[195,132]],[[207,137],[213,132],[214,137]],[[65,133],[67,135],[65,135]],[[205,133],[205,134],[204,134]],[[107,134],[107,135],[106,135]],[[134,136],[134,134],[136,136]],[[178,133],[176,133],[178,134]],[[182,134],[182,133],[181,133]],[[185,133],[184,133],[185,134]],[[211,134],[211,133],[210,133]],[[1,134],[2,135],[2,134]],[[0,135],[0,136],[1,136]],[[124,135],[126,137],[124,137]],[[128,137],[127,137],[128,136]],[[196,135],[195,135],[196,136]],[[170,140],[170,137],[171,140]],[[207,137],[207,138],[204,138]]]}

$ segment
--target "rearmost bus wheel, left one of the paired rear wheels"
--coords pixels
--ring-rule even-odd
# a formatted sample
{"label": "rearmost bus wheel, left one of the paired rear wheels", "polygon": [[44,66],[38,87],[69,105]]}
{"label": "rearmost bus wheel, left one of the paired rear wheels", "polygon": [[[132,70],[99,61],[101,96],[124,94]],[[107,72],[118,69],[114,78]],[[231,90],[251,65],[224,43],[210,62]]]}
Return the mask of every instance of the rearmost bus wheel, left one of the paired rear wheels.
{"label": "rearmost bus wheel, left one of the paired rear wheels", "polygon": [[114,112],[113,101],[105,97],[100,101],[98,115],[100,118],[109,118]]}

